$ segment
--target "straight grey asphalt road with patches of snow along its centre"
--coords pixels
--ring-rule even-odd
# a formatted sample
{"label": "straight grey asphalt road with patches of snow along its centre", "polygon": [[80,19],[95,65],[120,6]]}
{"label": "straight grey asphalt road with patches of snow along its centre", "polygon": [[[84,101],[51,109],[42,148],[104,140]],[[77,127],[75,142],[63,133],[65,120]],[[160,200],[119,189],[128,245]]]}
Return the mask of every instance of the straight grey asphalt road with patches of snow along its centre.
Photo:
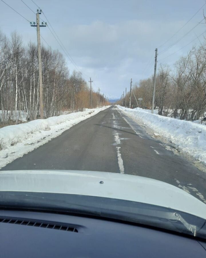
{"label": "straight grey asphalt road with patches of snow along its centre", "polygon": [[206,203],[206,173],[112,106],[1,170],[74,169],[125,173],[178,186]]}

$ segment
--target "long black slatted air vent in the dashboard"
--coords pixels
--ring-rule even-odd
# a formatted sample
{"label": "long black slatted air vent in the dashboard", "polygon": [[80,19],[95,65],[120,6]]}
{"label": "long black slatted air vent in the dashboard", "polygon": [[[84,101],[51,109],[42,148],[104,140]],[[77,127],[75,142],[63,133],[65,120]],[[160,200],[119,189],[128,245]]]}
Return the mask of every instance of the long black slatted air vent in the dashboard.
{"label": "long black slatted air vent in the dashboard", "polygon": [[14,218],[0,218],[1,223],[10,223],[10,224],[19,224],[25,226],[33,226],[39,228],[50,228],[64,231],[72,231],[78,232],[78,230],[74,226],[70,226],[68,224],[57,224],[57,223],[48,223],[46,221],[35,221],[35,220],[22,220],[22,219],[14,219]]}

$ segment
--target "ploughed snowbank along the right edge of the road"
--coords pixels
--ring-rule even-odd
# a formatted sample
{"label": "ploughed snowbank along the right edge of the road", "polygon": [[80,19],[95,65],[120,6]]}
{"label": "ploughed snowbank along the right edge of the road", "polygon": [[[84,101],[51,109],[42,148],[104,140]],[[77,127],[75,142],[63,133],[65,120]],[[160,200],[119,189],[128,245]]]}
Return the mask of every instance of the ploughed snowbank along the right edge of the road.
{"label": "ploughed snowbank along the right edge of the road", "polygon": [[151,114],[151,110],[118,108],[152,129],[154,136],[165,140],[191,157],[206,164],[206,126],[185,120]]}

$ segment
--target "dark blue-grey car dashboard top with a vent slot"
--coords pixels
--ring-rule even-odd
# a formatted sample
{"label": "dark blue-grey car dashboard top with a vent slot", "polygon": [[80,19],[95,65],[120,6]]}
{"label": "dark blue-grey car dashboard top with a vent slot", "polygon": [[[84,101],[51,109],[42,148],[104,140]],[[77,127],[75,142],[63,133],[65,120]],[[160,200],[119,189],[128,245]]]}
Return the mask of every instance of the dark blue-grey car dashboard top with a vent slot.
{"label": "dark blue-grey car dashboard top with a vent slot", "polygon": [[0,257],[206,257],[205,242],[115,220],[0,210]]}

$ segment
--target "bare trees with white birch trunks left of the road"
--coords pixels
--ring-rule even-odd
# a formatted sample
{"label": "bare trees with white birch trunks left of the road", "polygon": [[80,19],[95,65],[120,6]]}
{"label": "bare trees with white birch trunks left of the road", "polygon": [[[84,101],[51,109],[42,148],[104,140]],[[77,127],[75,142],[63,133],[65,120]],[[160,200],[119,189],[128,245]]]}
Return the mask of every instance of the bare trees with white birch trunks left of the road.
{"label": "bare trees with white birch trunks left of the road", "polygon": [[[44,118],[58,116],[64,110],[90,108],[90,88],[82,73],[68,70],[58,50],[41,47]],[[92,90],[92,107],[98,107],[98,92]],[[106,100],[100,94],[100,105]],[[39,118],[39,72],[37,45],[23,45],[17,32],[8,38],[0,32],[0,123],[8,123],[18,112],[27,121]]]}

